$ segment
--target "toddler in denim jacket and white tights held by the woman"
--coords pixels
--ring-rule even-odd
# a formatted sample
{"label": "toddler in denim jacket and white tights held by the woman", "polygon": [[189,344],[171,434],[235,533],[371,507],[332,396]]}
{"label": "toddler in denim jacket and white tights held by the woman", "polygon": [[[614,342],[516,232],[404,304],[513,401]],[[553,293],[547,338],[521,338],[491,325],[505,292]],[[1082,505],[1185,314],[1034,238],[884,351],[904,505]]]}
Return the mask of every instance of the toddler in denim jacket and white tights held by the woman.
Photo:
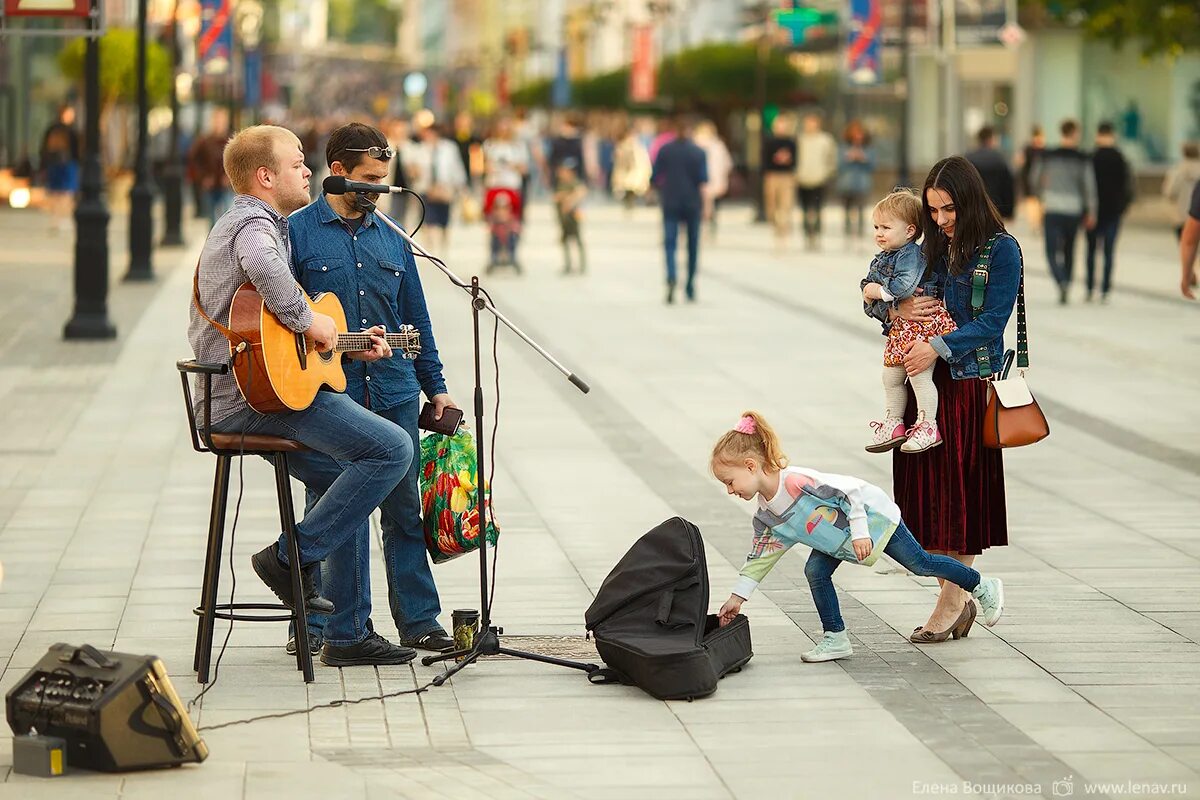
{"label": "toddler in denim jacket and white tights held by the woman", "polygon": [[956,326],[946,308],[938,308],[931,319],[924,321],[888,319],[892,303],[913,296],[925,275],[925,259],[916,241],[920,233],[920,198],[907,190],[892,192],[875,205],[871,219],[880,253],[871,261],[860,287],[863,311],[883,323],[888,336],[888,342],[883,345],[883,395],[887,407],[883,420],[871,422],[875,434],[866,445],[866,451],[887,452],[900,445],[900,450],[905,452],[923,452],[942,444],[942,434],[937,429],[934,368],[908,378],[917,397],[917,423],[906,431],[904,413],[908,393],[904,387],[904,355],[913,342],[928,342],[935,336],[949,333]]}

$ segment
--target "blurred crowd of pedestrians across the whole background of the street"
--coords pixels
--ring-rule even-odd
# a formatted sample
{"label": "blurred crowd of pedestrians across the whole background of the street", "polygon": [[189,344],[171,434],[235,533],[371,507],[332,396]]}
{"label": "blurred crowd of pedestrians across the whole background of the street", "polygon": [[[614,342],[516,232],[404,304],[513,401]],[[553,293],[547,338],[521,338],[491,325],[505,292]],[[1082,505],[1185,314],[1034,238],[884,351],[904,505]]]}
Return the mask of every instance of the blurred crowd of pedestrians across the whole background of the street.
{"label": "blurred crowd of pedestrians across the whole background of the street", "polygon": [[[348,120],[341,114],[264,121],[284,125],[300,137],[314,174],[311,185],[316,196],[328,174],[325,142],[330,131]],[[560,228],[563,272],[586,270],[582,231],[587,203],[611,199],[629,211],[662,205],[665,178],[656,176],[658,158],[666,144],[680,137],[703,152],[696,213],[712,234],[722,200],[749,197],[760,209],[760,219],[772,225],[779,251],[791,246],[796,231],[808,248],[820,248],[829,203],[844,212],[842,233],[864,239],[870,222],[865,209],[878,199],[878,184],[886,178],[877,175],[876,149],[864,121],[851,119],[834,133],[818,113],[779,113],[757,148],[756,143],[738,143],[738,158],[731,155],[720,128],[700,119],[618,112],[529,114],[516,109],[488,119],[466,112],[438,119],[421,110],[377,122],[392,150],[391,182],[410,188],[422,200],[416,203],[409,193],[394,194],[385,209],[409,229],[422,225],[433,246],[444,245],[454,224],[487,224],[490,270],[520,272],[526,211],[535,199],[552,203]],[[221,216],[232,199],[222,166],[230,132],[228,112],[212,107],[206,125],[194,136],[184,132],[180,143],[197,215],[210,221]],[[1063,120],[1055,133],[1051,143],[1043,127],[1034,127],[1009,160],[1000,149],[996,131],[984,127],[965,156],[979,170],[1001,216],[1013,219],[1020,213],[1032,230],[1043,234],[1061,302],[1068,301],[1075,242],[1080,231],[1085,234],[1086,299],[1098,293],[1103,301],[1111,285],[1121,221],[1135,198],[1136,180],[1111,124],[1102,122],[1088,136],[1075,121]],[[152,160],[161,172],[169,149],[164,136],[155,142]],[[757,157],[750,156],[754,150]],[[70,225],[79,187],[79,155],[76,115],[64,107],[46,131],[37,168],[55,229]],[[748,161],[761,163],[761,180],[752,180]],[[1189,142],[1162,185],[1176,235],[1184,228],[1198,181],[1200,144]],[[684,201],[689,207],[690,203]],[[679,224],[689,219],[685,215]],[[673,241],[671,231],[665,233]],[[668,254],[668,261],[671,258]]]}

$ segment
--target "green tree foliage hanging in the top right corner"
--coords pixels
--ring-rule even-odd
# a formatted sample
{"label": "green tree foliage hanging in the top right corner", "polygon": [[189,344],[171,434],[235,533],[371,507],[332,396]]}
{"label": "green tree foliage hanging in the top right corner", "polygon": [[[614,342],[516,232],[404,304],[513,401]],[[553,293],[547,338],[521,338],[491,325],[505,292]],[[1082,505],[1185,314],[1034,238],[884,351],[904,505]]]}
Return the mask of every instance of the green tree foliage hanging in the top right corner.
{"label": "green tree foliage hanging in the top right corner", "polygon": [[1142,55],[1200,52],[1196,0],[1021,0],[1051,19],[1081,24],[1094,38],[1122,46],[1138,42]]}

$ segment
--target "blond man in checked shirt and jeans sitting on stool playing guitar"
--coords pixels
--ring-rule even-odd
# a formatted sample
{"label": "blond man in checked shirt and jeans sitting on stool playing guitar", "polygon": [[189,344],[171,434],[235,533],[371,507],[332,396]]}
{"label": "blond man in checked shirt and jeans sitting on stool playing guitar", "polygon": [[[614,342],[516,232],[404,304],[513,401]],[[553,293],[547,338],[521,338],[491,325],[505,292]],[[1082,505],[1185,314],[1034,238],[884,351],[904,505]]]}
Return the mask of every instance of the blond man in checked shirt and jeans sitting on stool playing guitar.
{"label": "blond man in checked shirt and jeans sitting on stool playing guitar", "polygon": [[[307,204],[312,174],[304,163],[300,140],[281,127],[245,128],[226,145],[224,169],[236,197],[212,227],[200,254],[197,302],[188,323],[197,360],[229,360],[230,343],[206,317],[228,319],[234,293],[247,281],[283,325],[304,333],[318,353],[328,353],[336,342],[337,327],[330,317],[312,311],[290,266],[287,216]],[[371,332],[372,349],[359,357],[390,356],[383,330],[374,327]],[[254,378],[252,373],[250,380]],[[203,420],[203,392],[196,396],[200,398],[197,419]],[[246,404],[232,374],[212,377],[209,411],[215,432],[286,437],[310,449],[288,458],[292,474],[320,494],[296,525],[307,607],[310,612],[329,613],[353,604],[356,587],[370,585],[370,575],[331,572],[324,576],[323,597],[312,588],[312,570],[341,548],[353,552],[370,546],[365,522],[408,471],[412,439],[396,425],[337,392],[318,392],[304,410],[262,414]],[[290,570],[298,565],[287,564],[284,553],[280,542],[272,542],[251,561],[276,596],[290,603]],[[340,627],[340,616],[335,614],[325,628],[330,643],[326,646],[335,661],[400,664],[416,655],[410,648],[386,642],[370,625]]]}

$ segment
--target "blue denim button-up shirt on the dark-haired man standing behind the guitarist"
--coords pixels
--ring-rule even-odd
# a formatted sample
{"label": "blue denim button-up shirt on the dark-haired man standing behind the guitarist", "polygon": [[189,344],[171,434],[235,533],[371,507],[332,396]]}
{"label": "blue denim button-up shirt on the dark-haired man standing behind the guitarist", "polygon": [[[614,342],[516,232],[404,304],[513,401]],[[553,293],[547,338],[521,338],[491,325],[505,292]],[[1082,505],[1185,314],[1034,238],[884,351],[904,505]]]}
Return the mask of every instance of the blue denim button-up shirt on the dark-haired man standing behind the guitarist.
{"label": "blue denim button-up shirt on the dark-haired man standing behind the guitarist", "polygon": [[331,291],[349,329],[383,325],[388,331],[413,325],[421,335],[415,361],[398,355],[367,363],[344,360],[346,393],[373,410],[445,392],[442,361],[433,342],[421,276],[408,242],[367,215],[358,231],[322,194],[289,217],[296,279],[308,294]]}

